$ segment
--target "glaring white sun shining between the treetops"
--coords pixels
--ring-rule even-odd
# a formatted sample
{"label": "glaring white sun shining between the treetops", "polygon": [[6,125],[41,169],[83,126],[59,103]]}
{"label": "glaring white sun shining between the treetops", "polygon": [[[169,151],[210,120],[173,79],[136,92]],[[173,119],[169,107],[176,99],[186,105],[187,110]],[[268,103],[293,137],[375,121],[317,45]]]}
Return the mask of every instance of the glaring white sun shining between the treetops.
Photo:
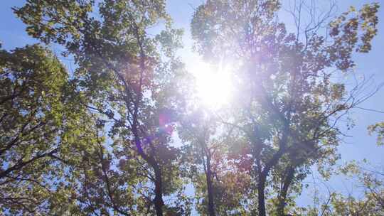
{"label": "glaring white sun shining between the treetops", "polygon": [[228,67],[199,62],[193,67],[198,99],[205,106],[219,108],[230,101],[233,85]]}

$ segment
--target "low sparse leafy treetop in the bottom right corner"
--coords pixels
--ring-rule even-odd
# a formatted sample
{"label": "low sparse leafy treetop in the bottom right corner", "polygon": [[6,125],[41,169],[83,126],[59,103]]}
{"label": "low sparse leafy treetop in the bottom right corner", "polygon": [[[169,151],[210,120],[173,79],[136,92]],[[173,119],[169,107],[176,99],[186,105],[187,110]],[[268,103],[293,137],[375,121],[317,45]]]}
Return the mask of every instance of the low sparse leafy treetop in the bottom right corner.
{"label": "low sparse leafy treetop in the bottom right corner", "polygon": [[[306,207],[301,211],[305,215],[383,215],[384,173],[380,169],[369,168],[367,162],[352,161],[338,168],[339,175],[347,177],[353,183],[348,193],[331,191],[325,200],[315,198],[319,207]],[[324,183],[326,185],[326,183]],[[356,194],[357,192],[357,194]],[[323,202],[321,202],[323,201]]]}

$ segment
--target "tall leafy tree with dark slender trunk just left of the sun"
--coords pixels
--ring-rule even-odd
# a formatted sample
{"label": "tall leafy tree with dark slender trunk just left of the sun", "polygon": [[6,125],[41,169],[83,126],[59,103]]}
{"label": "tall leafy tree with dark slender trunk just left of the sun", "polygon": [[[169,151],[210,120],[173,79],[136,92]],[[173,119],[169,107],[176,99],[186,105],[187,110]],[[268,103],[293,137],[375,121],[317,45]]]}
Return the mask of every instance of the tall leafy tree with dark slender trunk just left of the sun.
{"label": "tall leafy tree with dark slender trunk just left of the sun", "polygon": [[[119,182],[114,188],[126,188],[124,193],[130,193],[127,196],[134,201],[120,203],[125,195],[112,195],[112,190],[107,193],[107,200],[112,202],[107,205],[109,210],[122,215],[145,214],[153,209],[156,215],[163,215],[164,210],[177,207],[183,211],[177,203],[164,207],[164,196],[182,189],[177,178],[178,150],[169,142],[173,110],[183,104],[178,99],[178,92],[183,90],[178,83],[183,65],[174,55],[182,31],[171,28],[165,2],[106,0],[96,6],[93,1],[80,0],[27,1],[15,13],[31,36],[63,45],[65,53],[73,55],[78,65],[78,87],[92,98],[83,104],[102,114],[101,124],[110,128],[112,157],[109,153],[101,157],[101,152],[95,163],[122,163],[117,172],[105,172],[102,166],[105,176],[99,180],[108,188],[106,173],[111,172],[113,181]],[[151,37],[149,28],[160,21],[165,30]],[[141,196],[135,198],[137,195]],[[104,197],[100,199],[105,202]],[[139,204],[140,199],[147,202],[146,208]]]}

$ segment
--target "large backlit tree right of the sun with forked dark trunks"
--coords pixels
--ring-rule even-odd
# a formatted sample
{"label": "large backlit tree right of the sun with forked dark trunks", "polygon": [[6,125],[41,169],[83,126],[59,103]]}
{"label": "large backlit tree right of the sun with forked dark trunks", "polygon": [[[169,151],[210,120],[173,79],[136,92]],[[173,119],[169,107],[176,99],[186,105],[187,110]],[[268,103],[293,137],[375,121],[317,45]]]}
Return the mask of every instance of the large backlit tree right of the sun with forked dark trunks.
{"label": "large backlit tree right of the sun with forked dark trunks", "polygon": [[366,98],[359,95],[361,86],[348,92],[332,77],[350,72],[352,53],[367,53],[377,33],[378,4],[352,7],[329,23],[323,36],[319,28],[329,13],[304,27],[297,14],[297,33],[287,33],[277,20],[279,8],[272,0],[207,1],[191,22],[196,49],[205,59],[238,65],[234,118],[224,123],[247,139],[257,182],[255,215],[267,214],[271,172],[280,171],[276,214],[284,215],[292,183],[314,163],[334,163],[341,135],[337,121]]}

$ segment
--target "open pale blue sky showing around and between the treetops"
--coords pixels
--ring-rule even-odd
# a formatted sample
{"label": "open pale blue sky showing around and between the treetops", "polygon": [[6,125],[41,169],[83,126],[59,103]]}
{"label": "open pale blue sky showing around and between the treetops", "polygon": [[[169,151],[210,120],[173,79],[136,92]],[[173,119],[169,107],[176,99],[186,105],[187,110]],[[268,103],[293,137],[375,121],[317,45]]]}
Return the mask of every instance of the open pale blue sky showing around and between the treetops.
{"label": "open pale blue sky showing around and between the treetops", "polygon": [[[22,6],[22,0],[9,0],[0,2],[0,41],[2,48],[7,50],[21,47],[26,44],[36,43],[37,41],[30,38],[25,33],[25,26],[14,16],[11,6]],[[191,51],[192,41],[189,31],[189,23],[193,13],[193,8],[201,4],[203,0],[168,0],[167,10],[174,18],[176,28],[184,28],[185,35],[183,37],[184,48],[179,51],[179,55],[186,63],[188,70],[193,70],[193,65],[201,61],[200,57]],[[348,6],[356,6],[360,8],[363,4],[371,1],[336,1],[338,4],[338,12],[341,13],[348,9]],[[354,55],[356,60],[356,74],[358,76],[373,77],[371,86],[380,85],[384,82],[383,60],[384,60],[384,1],[379,0],[381,9],[379,11],[378,36],[373,40],[373,49],[368,54]],[[283,15],[284,16],[284,15]],[[281,20],[289,20],[289,17],[282,17]],[[55,47],[53,47],[55,50]],[[58,52],[58,50],[56,50]],[[66,63],[67,65],[70,62]],[[192,71],[193,72],[193,71]],[[380,90],[373,97],[361,104],[361,107],[367,109],[378,109],[384,111],[384,89]],[[341,153],[341,161],[358,160],[367,158],[375,166],[384,168],[384,146],[375,145],[375,136],[368,136],[367,126],[378,121],[384,121],[384,114],[378,112],[368,112],[361,109],[355,109],[351,112],[351,118],[354,119],[356,126],[351,130],[344,130],[345,134],[350,137],[343,138],[343,143],[339,148]],[[345,128],[345,127],[344,127]],[[345,187],[341,183],[340,178],[333,180],[334,188]],[[340,183],[340,184],[339,184]],[[300,199],[299,199],[300,201]],[[301,200],[301,203],[306,201]]]}

